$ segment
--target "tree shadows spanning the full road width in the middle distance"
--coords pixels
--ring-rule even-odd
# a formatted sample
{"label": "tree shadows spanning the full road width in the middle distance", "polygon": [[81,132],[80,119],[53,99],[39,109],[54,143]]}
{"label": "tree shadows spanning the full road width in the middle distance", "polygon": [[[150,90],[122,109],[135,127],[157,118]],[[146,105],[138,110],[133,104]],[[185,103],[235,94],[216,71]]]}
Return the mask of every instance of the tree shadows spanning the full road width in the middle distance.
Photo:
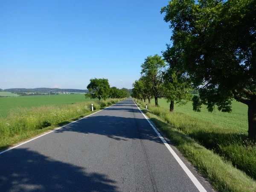
{"label": "tree shadows spanning the full road width in the middle distance", "polygon": [[[131,105],[131,102],[122,102]],[[121,104],[121,103],[120,103]],[[128,140],[128,139],[141,139],[151,140],[157,143],[163,144],[154,130],[148,124],[147,119],[141,114],[138,108],[120,108],[119,103],[115,105],[118,108],[106,108],[104,111],[108,111],[111,114],[113,111],[127,111],[132,113],[132,117],[121,117],[121,116],[90,116],[85,119],[81,119],[71,125],[67,125],[64,128],[58,129],[55,133],[62,133],[65,131],[73,131],[84,134],[99,134],[105,135],[114,140]],[[135,117],[139,113],[140,115]],[[135,116],[134,116],[135,115]]]}

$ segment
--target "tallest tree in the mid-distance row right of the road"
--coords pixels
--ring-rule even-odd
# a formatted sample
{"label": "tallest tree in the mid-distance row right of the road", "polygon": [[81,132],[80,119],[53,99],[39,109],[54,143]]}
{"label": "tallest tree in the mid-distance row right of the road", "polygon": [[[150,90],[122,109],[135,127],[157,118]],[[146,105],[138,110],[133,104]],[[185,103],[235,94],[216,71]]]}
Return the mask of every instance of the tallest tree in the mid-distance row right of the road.
{"label": "tallest tree in the mid-distance row right of the road", "polygon": [[154,55],[145,58],[141,65],[141,75],[143,78],[150,79],[151,89],[155,99],[155,105],[158,106],[158,97],[163,96],[163,70],[166,67],[162,56]]}

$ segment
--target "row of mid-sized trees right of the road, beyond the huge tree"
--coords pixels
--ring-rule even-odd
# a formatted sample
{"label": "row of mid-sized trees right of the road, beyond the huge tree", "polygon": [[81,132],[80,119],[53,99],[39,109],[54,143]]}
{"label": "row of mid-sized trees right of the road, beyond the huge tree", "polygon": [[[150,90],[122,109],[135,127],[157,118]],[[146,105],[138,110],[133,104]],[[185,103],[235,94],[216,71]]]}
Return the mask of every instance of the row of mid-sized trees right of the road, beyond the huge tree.
{"label": "row of mid-sized trees right of the road, beyond the huge tree", "polygon": [[192,83],[186,73],[182,73],[160,55],[148,56],[141,65],[141,77],[133,83],[132,96],[137,99],[154,98],[158,106],[158,98],[165,97],[170,102],[170,111],[174,111],[174,103],[186,104],[191,99]]}

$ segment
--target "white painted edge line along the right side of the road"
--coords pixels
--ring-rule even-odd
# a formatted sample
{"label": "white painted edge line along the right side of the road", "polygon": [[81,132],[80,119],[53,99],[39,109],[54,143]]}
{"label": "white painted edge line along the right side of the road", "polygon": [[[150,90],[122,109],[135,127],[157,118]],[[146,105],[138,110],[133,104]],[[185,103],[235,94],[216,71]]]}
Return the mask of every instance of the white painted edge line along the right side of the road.
{"label": "white painted edge line along the right side of the road", "polygon": [[[134,100],[133,100],[134,102]],[[138,105],[134,102],[134,104],[137,106],[137,108],[140,110],[140,108],[138,107]],[[166,145],[166,147],[168,148],[168,150],[171,152],[172,156],[175,158],[175,160],[177,160],[177,162],[180,164],[181,168],[184,170],[184,172],[186,173],[186,175],[189,176],[190,180],[192,180],[192,182],[194,183],[194,185],[196,186],[196,188],[198,188],[199,192],[207,192],[207,190],[204,189],[204,187],[201,185],[201,183],[197,180],[197,178],[192,174],[192,172],[187,168],[187,166],[183,163],[183,161],[180,159],[179,156],[177,156],[177,154],[175,153],[175,151],[173,151],[173,149],[171,148],[171,146],[166,142],[166,140],[162,137],[162,135],[157,131],[157,129],[154,127],[154,125],[150,122],[150,120],[148,119],[147,116],[145,116],[145,114],[140,110],[140,112],[143,114],[143,116],[145,117],[145,119],[147,119],[148,123],[151,125],[151,127],[154,129],[154,131],[157,133],[158,137],[163,141],[163,143]]]}

